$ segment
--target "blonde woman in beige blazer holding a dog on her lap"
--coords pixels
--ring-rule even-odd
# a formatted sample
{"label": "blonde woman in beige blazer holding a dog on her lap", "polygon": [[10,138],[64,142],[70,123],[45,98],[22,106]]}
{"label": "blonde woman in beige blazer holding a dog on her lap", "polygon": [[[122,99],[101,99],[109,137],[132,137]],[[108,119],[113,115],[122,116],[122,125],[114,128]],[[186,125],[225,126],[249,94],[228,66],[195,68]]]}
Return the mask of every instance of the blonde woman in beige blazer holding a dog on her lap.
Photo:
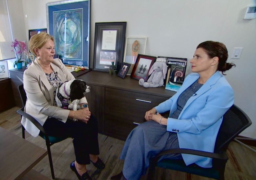
{"label": "blonde woman in beige blazer holding a dog on her lap", "polygon": [[[36,58],[23,75],[23,86],[27,94],[25,111],[44,127],[49,136],[73,138],[75,161],[70,164],[70,168],[78,179],[90,180],[86,164],[93,162],[97,168],[105,167],[97,156],[97,120],[91,115],[89,108],[73,111],[56,106],[54,97],[57,87],[75,77],[60,59],[53,59],[53,37],[47,33],[34,35],[29,41],[29,49]],[[87,104],[85,97],[79,102],[80,105]],[[68,118],[79,121],[74,122]],[[22,117],[21,123],[32,136],[40,134],[40,130],[25,117]]]}

